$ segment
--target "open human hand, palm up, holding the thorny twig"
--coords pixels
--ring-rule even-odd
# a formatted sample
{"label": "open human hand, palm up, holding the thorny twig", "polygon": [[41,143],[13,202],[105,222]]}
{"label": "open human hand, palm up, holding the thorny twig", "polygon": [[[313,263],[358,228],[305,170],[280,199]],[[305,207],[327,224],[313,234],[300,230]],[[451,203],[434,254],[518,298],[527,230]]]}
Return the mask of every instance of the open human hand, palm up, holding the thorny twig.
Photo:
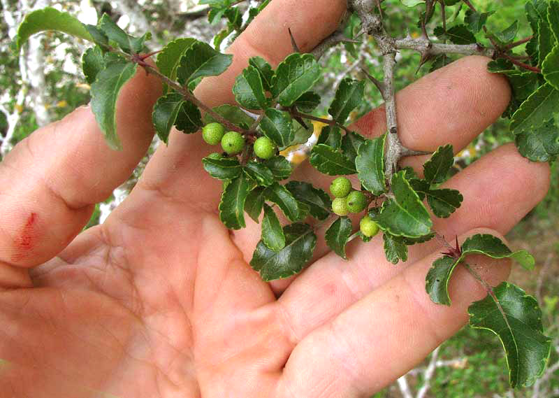
{"label": "open human hand, palm up, holding the thorny twig", "polygon": [[[288,26],[302,50],[312,49],[344,3],[273,1],[232,45],[233,66],[205,79],[196,96],[210,106],[232,102],[249,57],[279,63],[291,51]],[[509,88],[485,64],[462,59],[398,94],[407,147],[460,150],[498,118]],[[349,262],[319,242],[298,278],[263,283],[247,264],[259,226],[229,232],[219,222],[221,184],[202,169],[213,150],[200,134],[173,134],[130,197],[78,235],[94,204],[143,157],[160,92],[143,71],[126,85],[117,115],[123,152],[107,147],[80,108],[1,163],[0,391],[8,397],[368,397],[460,329],[467,306],[484,296],[458,269],[453,305],[433,304],[424,280],[437,241],[413,246],[409,262],[394,267],[378,237],[350,243]],[[384,111],[356,128],[382,134]],[[331,180],[308,164],[295,174],[322,187]],[[548,183],[546,164],[505,145],[449,180],[465,201],[434,229],[505,234]],[[493,284],[507,276],[507,262],[476,263]]]}

